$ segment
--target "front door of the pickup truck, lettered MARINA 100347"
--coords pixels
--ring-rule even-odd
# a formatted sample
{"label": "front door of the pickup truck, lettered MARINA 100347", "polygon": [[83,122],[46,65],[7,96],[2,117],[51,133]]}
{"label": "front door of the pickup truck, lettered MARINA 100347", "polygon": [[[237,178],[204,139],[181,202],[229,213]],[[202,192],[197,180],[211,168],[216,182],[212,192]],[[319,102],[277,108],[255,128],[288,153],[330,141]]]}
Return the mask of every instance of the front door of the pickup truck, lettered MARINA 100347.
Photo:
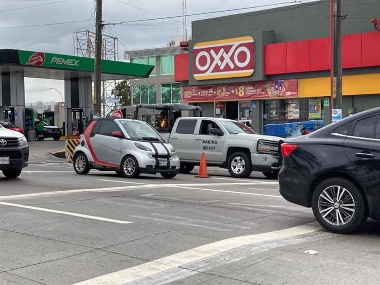
{"label": "front door of the pickup truck, lettered MARINA 100347", "polygon": [[195,136],[195,158],[200,160],[204,152],[207,162],[222,163],[225,135],[211,134],[212,128],[220,129],[216,122],[202,120],[198,134]]}

